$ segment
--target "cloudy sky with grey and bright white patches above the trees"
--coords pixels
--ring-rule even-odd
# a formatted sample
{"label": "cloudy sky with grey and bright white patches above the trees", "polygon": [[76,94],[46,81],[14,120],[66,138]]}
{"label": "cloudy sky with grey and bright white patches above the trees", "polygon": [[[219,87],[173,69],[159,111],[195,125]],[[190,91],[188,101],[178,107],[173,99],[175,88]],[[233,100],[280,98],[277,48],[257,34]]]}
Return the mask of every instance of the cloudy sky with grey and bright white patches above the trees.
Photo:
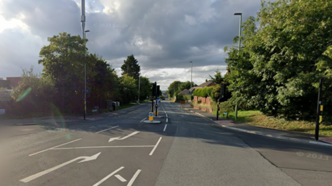
{"label": "cloudy sky with grey and bright white patches above the trees", "polygon": [[[202,84],[219,69],[225,74],[225,46],[243,21],[256,17],[260,0],[86,0],[89,53],[97,53],[121,74],[133,54],[141,74],[167,90],[176,80]],[[81,35],[80,0],[0,0],[0,77],[19,77],[38,64],[48,37]],[[191,64],[192,62],[192,71]]]}

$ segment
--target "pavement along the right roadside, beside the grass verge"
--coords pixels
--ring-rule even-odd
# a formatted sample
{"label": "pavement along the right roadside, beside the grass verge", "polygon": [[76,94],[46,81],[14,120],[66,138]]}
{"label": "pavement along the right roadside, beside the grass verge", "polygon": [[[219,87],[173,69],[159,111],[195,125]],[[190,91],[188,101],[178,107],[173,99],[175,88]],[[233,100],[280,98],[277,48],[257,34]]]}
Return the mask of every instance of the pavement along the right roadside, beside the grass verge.
{"label": "pavement along the right roadside, beside the grass verge", "polygon": [[256,127],[248,124],[239,124],[237,122],[228,120],[226,118],[219,118],[219,120],[216,120],[216,115],[212,115],[211,113],[207,113],[199,109],[194,109],[190,106],[190,104],[185,104],[183,108],[186,109],[187,111],[191,111],[197,115],[200,115],[201,117],[208,118],[209,120],[215,122],[219,126],[228,129],[243,131],[246,133],[254,133],[260,136],[268,136],[271,138],[279,138],[283,140],[292,140],[297,142],[305,142],[315,145],[326,145],[332,147],[332,138],[328,136],[320,136],[320,140],[316,141],[315,136],[311,133],[298,133],[293,131],[282,131],[277,129]]}

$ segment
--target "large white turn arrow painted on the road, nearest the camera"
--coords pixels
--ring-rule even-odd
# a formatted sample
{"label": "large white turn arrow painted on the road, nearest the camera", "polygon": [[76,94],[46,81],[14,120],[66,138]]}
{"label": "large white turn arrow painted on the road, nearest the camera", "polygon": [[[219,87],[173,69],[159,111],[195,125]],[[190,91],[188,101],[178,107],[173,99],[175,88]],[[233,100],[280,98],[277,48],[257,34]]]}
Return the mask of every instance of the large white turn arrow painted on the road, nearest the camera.
{"label": "large white turn arrow painted on the road, nearest the camera", "polygon": [[[100,152],[100,153],[101,153],[101,152]],[[60,165],[57,165],[57,166],[55,166],[55,167],[53,167],[53,168],[50,168],[50,169],[47,169],[47,170],[41,171],[41,172],[39,172],[39,173],[37,173],[37,174],[34,174],[33,176],[29,176],[29,177],[26,177],[26,178],[24,178],[24,179],[21,179],[20,181],[21,181],[21,182],[24,182],[24,183],[28,183],[30,180],[35,180],[35,178],[39,178],[40,176],[44,176],[45,174],[48,174],[48,173],[50,173],[51,171],[55,171],[56,169],[59,169],[59,168],[61,168],[61,167],[64,167],[65,165],[68,165],[68,164],[70,164],[71,162],[75,162],[76,160],[84,159],[84,160],[82,160],[82,161],[80,161],[80,162],[86,162],[86,161],[90,161],[90,160],[95,160],[95,159],[98,158],[98,156],[100,155],[100,153],[95,154],[95,155],[93,155],[93,156],[80,156],[80,157],[77,157],[77,158],[75,158],[75,159],[73,159],[73,160],[70,160],[70,161],[68,161],[68,162],[64,162],[64,163],[62,163],[62,164],[60,164]]]}

